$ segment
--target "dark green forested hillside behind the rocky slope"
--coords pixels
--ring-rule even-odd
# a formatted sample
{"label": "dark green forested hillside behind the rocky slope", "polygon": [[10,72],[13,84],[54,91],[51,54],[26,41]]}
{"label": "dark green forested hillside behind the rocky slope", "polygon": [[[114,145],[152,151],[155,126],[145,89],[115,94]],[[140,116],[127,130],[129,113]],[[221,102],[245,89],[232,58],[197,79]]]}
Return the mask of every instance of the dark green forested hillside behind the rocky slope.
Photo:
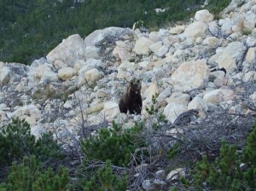
{"label": "dark green forested hillside behind the rocky slope", "polygon": [[[200,8],[202,0],[0,0],[0,61],[30,65],[78,33],[85,38],[90,32],[108,26],[132,27],[143,20],[148,29],[185,20]],[[230,0],[210,1],[212,14]],[[169,8],[156,14],[154,9]],[[145,14],[147,13],[147,14]]]}

